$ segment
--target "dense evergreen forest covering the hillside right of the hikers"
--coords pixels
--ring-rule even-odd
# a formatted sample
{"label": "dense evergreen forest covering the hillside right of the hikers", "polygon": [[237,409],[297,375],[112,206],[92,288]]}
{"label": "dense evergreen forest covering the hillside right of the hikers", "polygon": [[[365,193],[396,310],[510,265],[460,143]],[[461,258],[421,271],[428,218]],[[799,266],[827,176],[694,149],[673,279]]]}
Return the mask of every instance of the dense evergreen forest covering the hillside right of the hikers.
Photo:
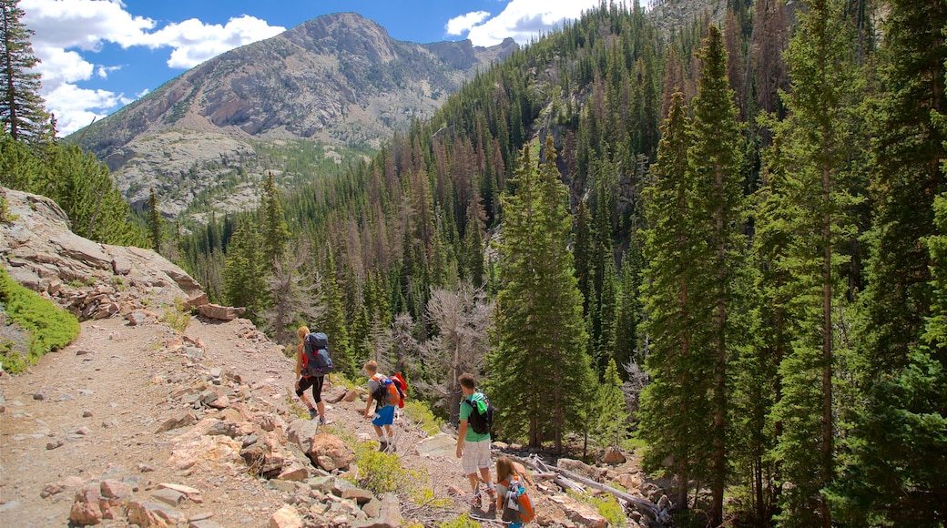
{"label": "dense evergreen forest covering the hillside right of the hikers", "polygon": [[944,526],[947,5],[726,4],[603,4],[364,163],[126,235],[447,419],[472,372],[496,439],[641,449],[681,526]]}

